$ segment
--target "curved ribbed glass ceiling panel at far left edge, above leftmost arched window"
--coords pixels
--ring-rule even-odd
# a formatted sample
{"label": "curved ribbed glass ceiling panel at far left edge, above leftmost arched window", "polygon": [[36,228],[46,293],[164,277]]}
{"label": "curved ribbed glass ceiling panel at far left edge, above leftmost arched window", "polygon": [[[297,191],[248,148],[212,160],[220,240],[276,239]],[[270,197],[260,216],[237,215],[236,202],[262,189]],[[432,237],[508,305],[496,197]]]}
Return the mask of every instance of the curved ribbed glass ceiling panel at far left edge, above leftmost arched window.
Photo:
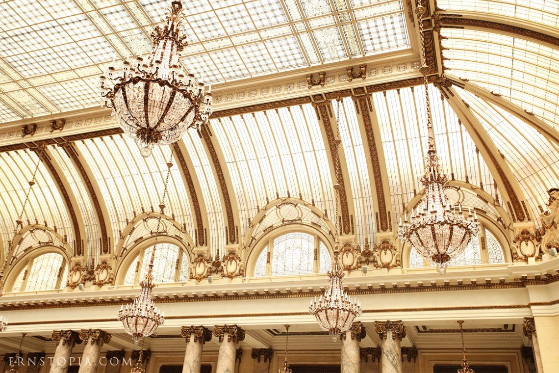
{"label": "curved ribbed glass ceiling panel at far left edge, above leftmost arched window", "polygon": [[[7,152],[0,154],[0,232],[4,250],[8,248],[8,240],[12,239],[16,219],[21,212],[29,181],[35,171],[37,155],[29,151]],[[45,224],[56,229],[60,235],[67,235],[68,243],[73,246],[74,235],[72,224],[53,178],[46,166],[40,162],[35,177],[36,183],[31,188],[29,201],[23,214],[23,225],[35,223]]]}

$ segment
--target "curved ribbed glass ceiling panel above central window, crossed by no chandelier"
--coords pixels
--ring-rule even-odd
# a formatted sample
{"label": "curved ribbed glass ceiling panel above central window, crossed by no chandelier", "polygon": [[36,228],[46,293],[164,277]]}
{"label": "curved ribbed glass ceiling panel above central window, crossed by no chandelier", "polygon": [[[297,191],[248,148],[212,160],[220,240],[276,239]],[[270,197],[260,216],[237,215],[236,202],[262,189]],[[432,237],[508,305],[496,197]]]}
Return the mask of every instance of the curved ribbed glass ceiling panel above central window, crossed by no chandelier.
{"label": "curved ribbed glass ceiling panel above central window, crossed by no chandelier", "polygon": [[319,122],[311,105],[211,120],[239,205],[243,236],[257,206],[276,196],[314,200],[334,211],[334,189]]}

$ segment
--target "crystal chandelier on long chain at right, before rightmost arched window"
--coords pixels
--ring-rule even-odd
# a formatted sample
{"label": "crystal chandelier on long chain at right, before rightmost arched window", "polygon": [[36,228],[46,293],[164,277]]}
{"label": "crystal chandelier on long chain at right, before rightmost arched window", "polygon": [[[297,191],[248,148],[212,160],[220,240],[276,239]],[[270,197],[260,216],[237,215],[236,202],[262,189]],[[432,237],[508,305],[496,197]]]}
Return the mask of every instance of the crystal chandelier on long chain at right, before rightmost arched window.
{"label": "crystal chandelier on long chain at right, before rightmost arched window", "polygon": [[[425,7],[421,6],[419,0],[415,13],[418,15],[419,34],[421,37],[421,59],[423,65],[419,69],[423,74],[423,85],[425,88],[427,106],[427,131],[428,150],[425,157],[425,168],[421,184],[425,187],[425,194],[420,203],[411,209],[411,214],[404,215],[404,223],[400,218],[398,235],[402,242],[408,242],[421,256],[431,259],[437,263],[437,271],[444,275],[446,267],[451,259],[460,256],[466,249],[472,236],[477,234],[479,224],[477,214],[474,211],[466,217],[462,212],[462,206],[451,204],[444,194],[444,187],[448,177],[442,171],[439,163],[435,140],[433,135],[433,124],[431,122],[431,111],[429,103],[428,78],[430,68],[425,57],[425,40],[423,37],[423,15]],[[408,219],[409,218],[409,219]]]}

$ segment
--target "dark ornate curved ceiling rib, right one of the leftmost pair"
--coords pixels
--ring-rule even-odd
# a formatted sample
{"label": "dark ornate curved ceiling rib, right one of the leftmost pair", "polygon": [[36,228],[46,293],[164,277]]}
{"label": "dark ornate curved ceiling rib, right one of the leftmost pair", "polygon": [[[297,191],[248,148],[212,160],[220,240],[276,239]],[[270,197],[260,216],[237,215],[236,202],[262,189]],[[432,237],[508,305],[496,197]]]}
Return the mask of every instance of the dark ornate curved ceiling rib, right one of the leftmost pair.
{"label": "dark ornate curved ceiling rib, right one of the leftmost pair", "polygon": [[[86,186],[86,190],[89,195],[89,199],[93,204],[93,208],[95,210],[95,214],[97,215],[97,223],[100,229],[101,235],[101,253],[100,254],[108,254],[111,253],[111,241],[108,237],[108,233],[111,230],[111,226],[109,221],[105,219],[105,216],[108,216],[107,208],[105,205],[101,205],[99,198],[97,197],[97,192],[99,190],[99,186],[95,182],[95,178],[91,176],[91,170],[86,170],[87,166],[84,166],[78,154],[78,149],[74,147],[72,143],[65,143],[61,145],[62,148],[65,150],[68,157],[72,159],[72,163],[74,167],[78,170],[80,177]],[[94,255],[94,254],[93,254]]]}

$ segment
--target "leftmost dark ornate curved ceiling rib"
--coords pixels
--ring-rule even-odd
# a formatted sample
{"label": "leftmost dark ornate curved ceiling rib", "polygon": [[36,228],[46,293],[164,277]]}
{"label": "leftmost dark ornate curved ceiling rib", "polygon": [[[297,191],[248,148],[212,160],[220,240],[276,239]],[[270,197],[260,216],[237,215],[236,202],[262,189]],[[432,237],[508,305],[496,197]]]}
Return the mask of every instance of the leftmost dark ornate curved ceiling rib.
{"label": "leftmost dark ornate curved ceiling rib", "polygon": [[42,163],[45,164],[50,176],[56,183],[56,187],[58,187],[60,195],[64,199],[69,218],[72,221],[72,225],[74,228],[74,254],[78,257],[83,256],[83,242],[85,238],[85,234],[83,232],[84,220],[82,214],[80,213],[76,199],[72,195],[72,191],[70,190],[70,188],[67,188],[67,181],[62,180],[62,178],[60,177],[60,174],[62,173],[58,169],[58,166],[55,166],[55,164],[51,162],[48,150],[46,150],[46,148],[44,147],[35,147],[31,150],[33,150],[37,154],[37,156],[41,158]]}

